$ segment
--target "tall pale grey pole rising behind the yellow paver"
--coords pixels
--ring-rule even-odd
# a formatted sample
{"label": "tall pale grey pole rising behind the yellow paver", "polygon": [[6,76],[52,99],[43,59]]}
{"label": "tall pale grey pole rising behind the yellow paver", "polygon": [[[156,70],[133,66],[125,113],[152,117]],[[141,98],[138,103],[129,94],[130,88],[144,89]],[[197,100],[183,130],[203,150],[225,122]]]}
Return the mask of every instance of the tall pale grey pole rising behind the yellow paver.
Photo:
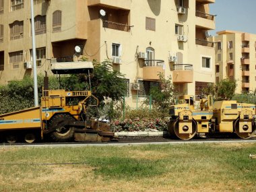
{"label": "tall pale grey pole rising behind the yellow paver", "polygon": [[33,55],[33,74],[34,74],[34,106],[38,106],[38,86],[37,86],[37,71],[36,71],[36,40],[34,32],[34,2],[30,0],[31,9],[31,30],[32,30],[32,55]]}

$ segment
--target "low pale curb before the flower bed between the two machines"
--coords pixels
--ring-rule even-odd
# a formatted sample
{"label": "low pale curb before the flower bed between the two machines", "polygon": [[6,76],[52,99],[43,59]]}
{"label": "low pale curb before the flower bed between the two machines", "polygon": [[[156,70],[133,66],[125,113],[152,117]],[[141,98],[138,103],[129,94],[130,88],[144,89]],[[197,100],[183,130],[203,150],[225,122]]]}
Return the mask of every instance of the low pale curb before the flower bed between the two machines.
{"label": "low pale curb before the flower bed between the two machines", "polygon": [[162,137],[168,135],[167,131],[120,131],[115,132],[116,137]]}

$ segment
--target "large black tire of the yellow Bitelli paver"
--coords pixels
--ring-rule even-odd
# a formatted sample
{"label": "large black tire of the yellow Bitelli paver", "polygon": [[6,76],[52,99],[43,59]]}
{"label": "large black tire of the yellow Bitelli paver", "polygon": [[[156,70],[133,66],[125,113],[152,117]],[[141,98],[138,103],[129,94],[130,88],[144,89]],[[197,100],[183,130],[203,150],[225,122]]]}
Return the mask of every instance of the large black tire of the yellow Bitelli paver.
{"label": "large black tire of the yellow Bitelli paver", "polygon": [[74,137],[75,128],[70,127],[67,123],[75,121],[73,117],[67,114],[55,115],[49,121],[49,129],[55,129],[50,133],[51,139],[57,142],[71,141]]}

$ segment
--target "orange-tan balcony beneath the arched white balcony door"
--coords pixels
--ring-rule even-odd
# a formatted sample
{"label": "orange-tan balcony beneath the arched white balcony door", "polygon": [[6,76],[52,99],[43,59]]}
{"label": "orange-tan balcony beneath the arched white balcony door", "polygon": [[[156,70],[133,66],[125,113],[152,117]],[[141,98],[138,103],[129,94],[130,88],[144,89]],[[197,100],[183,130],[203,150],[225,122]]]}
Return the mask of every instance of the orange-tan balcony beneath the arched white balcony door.
{"label": "orange-tan balcony beneath the arched white balcony door", "polygon": [[163,60],[144,60],[143,80],[160,80],[159,73],[165,73]]}

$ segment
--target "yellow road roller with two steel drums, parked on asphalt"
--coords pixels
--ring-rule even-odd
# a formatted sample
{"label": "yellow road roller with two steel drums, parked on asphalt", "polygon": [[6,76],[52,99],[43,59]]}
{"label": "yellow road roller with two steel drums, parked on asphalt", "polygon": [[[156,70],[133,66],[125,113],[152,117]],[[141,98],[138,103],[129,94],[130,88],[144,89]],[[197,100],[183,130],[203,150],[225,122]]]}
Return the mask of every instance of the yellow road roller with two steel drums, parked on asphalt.
{"label": "yellow road roller with two steel drums, parked on asphalt", "polygon": [[210,95],[197,98],[180,96],[178,104],[170,106],[170,135],[183,140],[212,133],[236,133],[243,139],[255,135],[255,104],[236,100],[213,102]]}

